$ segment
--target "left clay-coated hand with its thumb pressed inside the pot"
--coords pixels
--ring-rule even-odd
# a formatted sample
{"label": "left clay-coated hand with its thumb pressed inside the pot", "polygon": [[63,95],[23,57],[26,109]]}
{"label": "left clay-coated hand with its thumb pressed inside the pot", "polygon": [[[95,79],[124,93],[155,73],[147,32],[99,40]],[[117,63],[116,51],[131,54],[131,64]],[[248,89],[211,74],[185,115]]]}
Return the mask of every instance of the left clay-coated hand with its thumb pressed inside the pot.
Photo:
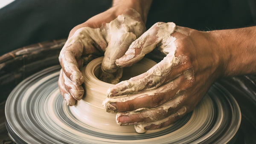
{"label": "left clay-coated hand with its thumb pressed inside the pot", "polygon": [[62,69],[58,85],[67,104],[73,106],[76,100],[83,97],[80,69],[84,61],[93,58],[92,55],[105,53],[100,77],[103,81],[118,83],[122,69],[116,66],[115,61],[143,32],[145,25],[134,9],[128,9],[118,16],[113,9],[109,9],[76,26],[59,55]]}

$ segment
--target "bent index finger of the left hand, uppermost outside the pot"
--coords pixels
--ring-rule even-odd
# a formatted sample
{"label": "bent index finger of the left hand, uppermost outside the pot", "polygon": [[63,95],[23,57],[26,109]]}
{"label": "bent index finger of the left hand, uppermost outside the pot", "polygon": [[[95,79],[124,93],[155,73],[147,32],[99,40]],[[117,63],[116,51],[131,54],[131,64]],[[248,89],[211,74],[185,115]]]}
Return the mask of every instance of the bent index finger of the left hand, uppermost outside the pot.
{"label": "bent index finger of the left hand, uppermost outside the pot", "polygon": [[59,61],[61,67],[76,85],[81,85],[83,83],[83,75],[79,70],[78,59],[81,58],[83,53],[83,48],[80,42],[71,44],[67,48],[61,50]]}

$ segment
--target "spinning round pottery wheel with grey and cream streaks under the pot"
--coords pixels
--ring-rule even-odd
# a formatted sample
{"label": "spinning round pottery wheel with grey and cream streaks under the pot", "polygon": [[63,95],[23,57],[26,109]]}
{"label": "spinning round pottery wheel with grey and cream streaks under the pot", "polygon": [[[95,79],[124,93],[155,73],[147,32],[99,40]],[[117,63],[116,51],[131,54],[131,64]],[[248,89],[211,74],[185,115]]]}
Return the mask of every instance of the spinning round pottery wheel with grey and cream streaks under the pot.
{"label": "spinning round pottery wheel with grey and cream streaks under the pot", "polygon": [[218,83],[192,112],[170,127],[144,134],[119,133],[100,130],[101,126],[93,127],[73,115],[58,90],[59,70],[60,66],[52,66],[38,72],[9,95],[6,127],[16,143],[226,143],[236,138],[241,112]]}

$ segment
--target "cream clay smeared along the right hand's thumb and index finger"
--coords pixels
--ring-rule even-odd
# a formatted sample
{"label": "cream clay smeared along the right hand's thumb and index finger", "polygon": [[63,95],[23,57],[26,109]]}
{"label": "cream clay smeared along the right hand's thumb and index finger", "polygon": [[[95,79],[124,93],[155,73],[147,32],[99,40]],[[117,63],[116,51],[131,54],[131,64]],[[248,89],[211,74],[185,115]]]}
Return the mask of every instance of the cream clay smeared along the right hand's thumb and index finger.
{"label": "cream clay smeared along the right hand's thumb and index finger", "polygon": [[[141,37],[147,37],[148,35],[151,36],[156,33],[156,27],[157,27],[157,34],[156,34],[156,42],[145,42],[148,44],[145,44],[146,47],[142,48],[142,52],[139,55],[135,56],[136,49],[133,49],[132,47],[138,48],[142,45],[143,42],[141,42]],[[120,89],[117,89],[115,94],[112,94],[110,91],[112,89],[108,90],[108,97],[113,97],[116,95],[122,95],[122,94],[128,94],[130,92],[138,92],[144,89],[155,89],[156,87],[163,84],[164,81],[166,81],[163,78],[166,78],[166,75],[169,74],[170,70],[172,70],[172,67],[177,65],[181,60],[177,57],[175,57],[176,52],[176,46],[175,46],[175,37],[172,37],[171,34],[175,32],[175,23],[157,23],[154,26],[152,26],[147,32],[145,32],[141,37],[138,38],[138,40],[135,40],[134,43],[131,44],[128,51],[125,53],[125,57],[122,57],[118,59],[117,61],[129,61],[128,59],[134,58],[134,59],[141,59],[144,57],[144,55],[154,49],[155,46],[160,49],[161,52],[166,54],[166,57],[157,65],[149,69],[146,73],[147,75],[144,76],[144,78],[133,80],[133,81],[123,81],[122,87]],[[151,34],[152,33],[152,34]],[[138,42],[139,41],[139,42]],[[137,44],[138,46],[134,46],[134,44]],[[132,60],[131,60],[132,61]],[[151,87],[147,88],[146,83],[148,81],[151,81]]]}

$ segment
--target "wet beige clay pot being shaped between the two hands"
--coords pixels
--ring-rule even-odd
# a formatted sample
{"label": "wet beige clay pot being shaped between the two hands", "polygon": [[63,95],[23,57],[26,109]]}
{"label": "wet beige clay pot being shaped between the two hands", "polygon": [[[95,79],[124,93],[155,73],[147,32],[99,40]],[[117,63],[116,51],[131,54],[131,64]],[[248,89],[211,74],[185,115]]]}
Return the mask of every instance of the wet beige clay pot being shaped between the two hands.
{"label": "wet beige clay pot being shaped between the two hands", "polygon": [[[82,69],[85,95],[80,101],[77,101],[75,106],[70,107],[70,111],[83,124],[97,131],[114,135],[126,135],[130,132],[135,132],[134,126],[122,127],[117,125],[116,113],[105,112],[102,106],[102,102],[107,98],[107,90],[113,86],[113,84],[98,79],[102,60],[103,57],[96,58]],[[133,66],[124,68],[120,81],[140,75],[155,64],[153,60],[143,58]]]}

